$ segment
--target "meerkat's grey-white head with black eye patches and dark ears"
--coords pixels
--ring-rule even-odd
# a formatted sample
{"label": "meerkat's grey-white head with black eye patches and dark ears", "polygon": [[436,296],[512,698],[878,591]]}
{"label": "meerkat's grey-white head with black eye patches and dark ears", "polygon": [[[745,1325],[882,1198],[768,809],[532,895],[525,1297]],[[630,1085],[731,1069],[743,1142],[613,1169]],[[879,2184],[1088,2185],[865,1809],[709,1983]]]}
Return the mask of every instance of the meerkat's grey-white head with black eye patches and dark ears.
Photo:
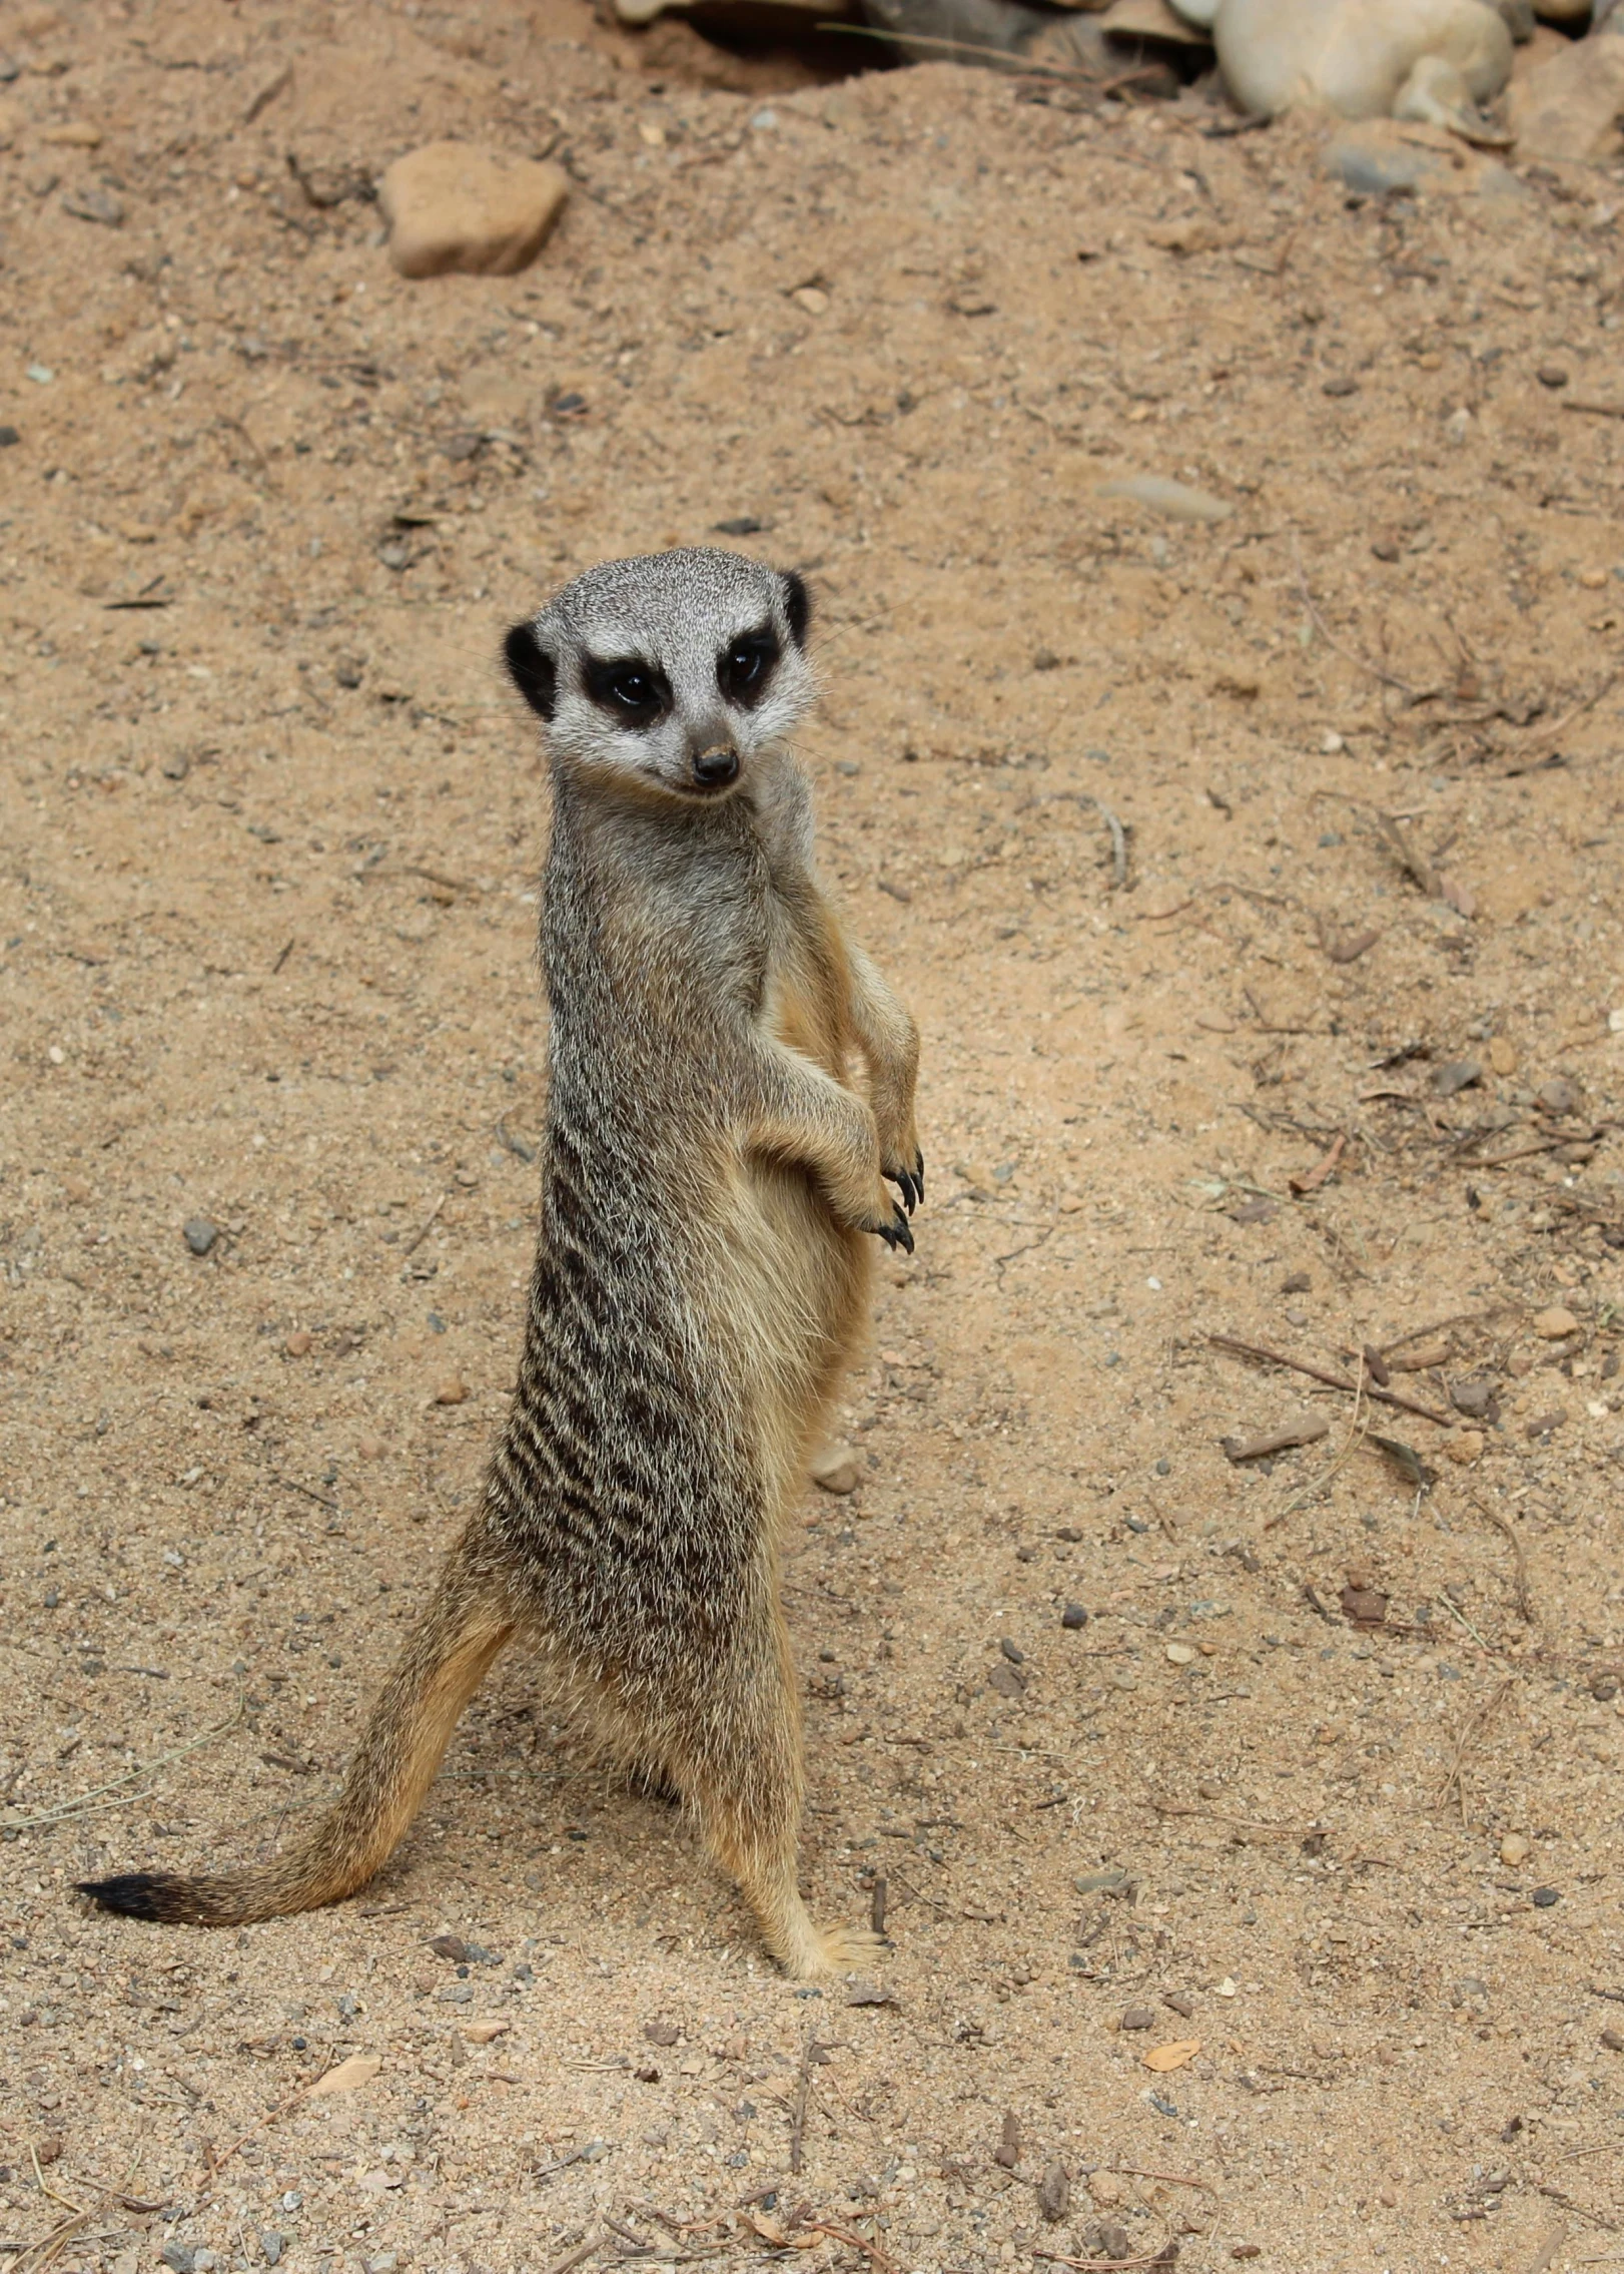
{"label": "meerkat's grey-white head with black eye patches and dark ears", "polygon": [[813,698],[793,571],[681,546],[588,568],[507,634],[554,760],[629,789],[725,798]]}

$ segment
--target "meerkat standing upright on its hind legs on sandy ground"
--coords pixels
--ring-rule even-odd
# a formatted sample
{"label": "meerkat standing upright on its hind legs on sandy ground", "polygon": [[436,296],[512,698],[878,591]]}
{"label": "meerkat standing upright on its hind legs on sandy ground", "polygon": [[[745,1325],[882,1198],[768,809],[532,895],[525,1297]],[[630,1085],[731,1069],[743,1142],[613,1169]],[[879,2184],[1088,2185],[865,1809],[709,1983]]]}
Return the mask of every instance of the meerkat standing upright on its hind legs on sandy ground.
{"label": "meerkat standing upright on its hind legs on sandy ground", "polygon": [[591,568],[507,634],[552,778],[541,1233],[507,1426],[332,1808],[266,1865],[84,1883],[107,1910],[236,1926],[352,1894],[522,1635],[604,1751],[693,1806],[788,1974],[874,1942],[813,1926],[797,1887],[779,1533],[874,1242],[913,1248],[924,1160],[913,1019],[813,871],[806,628],[797,575],[681,548]]}

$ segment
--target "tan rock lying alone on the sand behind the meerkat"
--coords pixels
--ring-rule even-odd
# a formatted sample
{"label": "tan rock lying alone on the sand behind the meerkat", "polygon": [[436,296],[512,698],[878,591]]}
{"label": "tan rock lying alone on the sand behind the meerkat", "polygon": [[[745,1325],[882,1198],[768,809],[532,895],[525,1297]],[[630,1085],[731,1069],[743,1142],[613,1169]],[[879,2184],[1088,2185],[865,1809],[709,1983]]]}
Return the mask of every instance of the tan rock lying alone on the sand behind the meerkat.
{"label": "tan rock lying alone on the sand behind the meerkat", "polygon": [[461,271],[511,277],[541,252],[570,193],[568,175],[472,143],[425,143],[384,173],[377,202],[402,277]]}

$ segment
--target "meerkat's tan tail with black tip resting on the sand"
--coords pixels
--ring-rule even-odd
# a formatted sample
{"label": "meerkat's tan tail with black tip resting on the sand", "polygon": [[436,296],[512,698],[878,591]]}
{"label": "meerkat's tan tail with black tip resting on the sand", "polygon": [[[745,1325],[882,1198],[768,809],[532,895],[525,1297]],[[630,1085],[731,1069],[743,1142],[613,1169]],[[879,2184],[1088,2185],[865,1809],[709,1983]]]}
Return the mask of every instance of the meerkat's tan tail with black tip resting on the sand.
{"label": "meerkat's tan tail with black tip resting on the sand", "polygon": [[286,1856],[207,1878],[120,1872],[116,1878],[79,1881],[79,1892],[129,1919],[184,1926],[245,1926],[354,1894],[404,1837],[463,1706],[513,1626],[513,1608],[488,1551],[463,1539],[384,1683],[338,1799]]}

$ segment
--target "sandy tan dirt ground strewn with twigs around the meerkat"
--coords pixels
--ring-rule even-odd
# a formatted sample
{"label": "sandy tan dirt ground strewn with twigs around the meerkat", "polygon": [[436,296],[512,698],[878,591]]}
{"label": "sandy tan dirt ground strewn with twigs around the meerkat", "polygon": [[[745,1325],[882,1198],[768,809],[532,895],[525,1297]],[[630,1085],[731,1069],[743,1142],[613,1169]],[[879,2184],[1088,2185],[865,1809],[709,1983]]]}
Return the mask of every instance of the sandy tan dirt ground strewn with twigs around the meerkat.
{"label": "sandy tan dirt ground strewn with twigs around the meerkat", "polygon": [[[1617,2263],[1622,184],[570,23],[0,9],[0,2244]],[[568,164],[529,273],[391,273],[443,132]],[[502,1414],[500,632],[745,521],[927,1037],[788,1553],[806,1883],[895,1949],[779,1981],[520,1660],[361,1901],[91,1917],[320,1803]]]}

